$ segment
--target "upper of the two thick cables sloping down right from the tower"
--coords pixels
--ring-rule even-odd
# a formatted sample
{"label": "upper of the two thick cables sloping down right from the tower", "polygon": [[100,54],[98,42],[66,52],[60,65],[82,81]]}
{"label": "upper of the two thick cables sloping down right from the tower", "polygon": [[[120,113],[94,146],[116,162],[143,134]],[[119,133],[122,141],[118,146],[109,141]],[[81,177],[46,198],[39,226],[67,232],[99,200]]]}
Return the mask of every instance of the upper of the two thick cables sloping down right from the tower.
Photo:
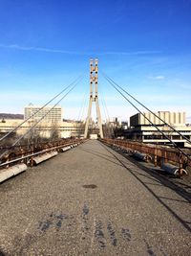
{"label": "upper of the two thick cables sloping down right from the tower", "polygon": [[134,96],[132,96],[130,93],[128,93],[125,89],[123,89],[120,85],[117,84],[116,81],[113,81],[111,78],[109,78],[107,75],[105,75],[102,72],[103,76],[105,78],[107,78],[109,81],[113,82],[114,84],[117,85],[118,88],[120,88],[123,92],[125,92],[129,97],[131,97],[134,101],[136,101],[139,105],[143,106],[145,109],[147,109],[149,112],[151,112],[155,117],[157,117],[164,125],[168,126],[169,128],[173,129],[174,131],[176,131],[182,138],[184,138],[189,144],[191,144],[191,141],[183,134],[180,133],[179,130],[177,130],[176,128],[173,128],[171,125],[169,125],[168,123],[166,123],[164,120],[162,120],[156,113],[154,113],[151,109],[149,109],[146,105],[141,104]]}

